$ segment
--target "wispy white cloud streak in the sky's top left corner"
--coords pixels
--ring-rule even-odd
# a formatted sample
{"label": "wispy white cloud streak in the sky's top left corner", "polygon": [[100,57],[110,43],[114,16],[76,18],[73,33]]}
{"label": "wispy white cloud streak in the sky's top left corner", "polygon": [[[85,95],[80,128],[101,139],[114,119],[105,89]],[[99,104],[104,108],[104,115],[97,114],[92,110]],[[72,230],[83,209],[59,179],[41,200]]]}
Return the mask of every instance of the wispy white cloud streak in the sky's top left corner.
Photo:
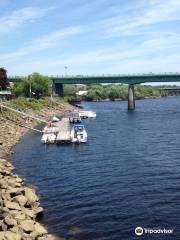
{"label": "wispy white cloud streak in the sky's top left corner", "polygon": [[8,16],[3,16],[0,18],[0,34],[11,32],[25,23],[42,18],[52,9],[53,7],[44,9],[27,7],[16,10]]}

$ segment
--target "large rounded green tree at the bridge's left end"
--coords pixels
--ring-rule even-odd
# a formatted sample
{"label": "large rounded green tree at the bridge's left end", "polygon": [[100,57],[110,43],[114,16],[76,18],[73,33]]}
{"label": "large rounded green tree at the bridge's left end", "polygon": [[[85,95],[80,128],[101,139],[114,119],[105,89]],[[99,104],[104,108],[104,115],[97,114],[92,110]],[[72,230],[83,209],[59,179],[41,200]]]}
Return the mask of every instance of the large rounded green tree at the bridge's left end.
{"label": "large rounded green tree at the bridge's left end", "polygon": [[48,96],[51,93],[52,81],[39,73],[33,73],[22,82],[16,83],[12,88],[15,96],[35,97]]}

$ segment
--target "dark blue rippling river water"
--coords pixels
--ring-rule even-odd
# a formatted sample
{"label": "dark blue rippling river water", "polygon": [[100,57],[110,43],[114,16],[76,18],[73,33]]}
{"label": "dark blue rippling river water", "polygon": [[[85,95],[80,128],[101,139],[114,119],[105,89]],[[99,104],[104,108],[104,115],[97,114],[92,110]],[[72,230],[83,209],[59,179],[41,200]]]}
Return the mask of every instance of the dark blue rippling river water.
{"label": "dark blue rippling river water", "polygon": [[44,146],[28,133],[15,148],[17,173],[35,185],[49,230],[66,239],[137,239],[134,229],[180,239],[180,97],[84,103],[88,143]]}

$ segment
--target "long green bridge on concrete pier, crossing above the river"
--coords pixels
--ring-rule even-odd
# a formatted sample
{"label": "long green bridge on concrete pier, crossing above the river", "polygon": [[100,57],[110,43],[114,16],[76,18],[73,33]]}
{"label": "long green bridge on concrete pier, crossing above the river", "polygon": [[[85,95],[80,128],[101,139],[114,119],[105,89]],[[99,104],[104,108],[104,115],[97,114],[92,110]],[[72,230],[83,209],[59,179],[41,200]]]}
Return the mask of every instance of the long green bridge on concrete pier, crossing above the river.
{"label": "long green bridge on concrete pier, crossing above the river", "polygon": [[[148,73],[129,75],[66,75],[48,76],[53,81],[55,92],[63,96],[63,84],[100,84],[100,83],[122,83],[128,84],[128,109],[135,109],[134,85],[152,82],[180,82],[180,73]],[[23,77],[10,76],[10,82],[22,81]]]}

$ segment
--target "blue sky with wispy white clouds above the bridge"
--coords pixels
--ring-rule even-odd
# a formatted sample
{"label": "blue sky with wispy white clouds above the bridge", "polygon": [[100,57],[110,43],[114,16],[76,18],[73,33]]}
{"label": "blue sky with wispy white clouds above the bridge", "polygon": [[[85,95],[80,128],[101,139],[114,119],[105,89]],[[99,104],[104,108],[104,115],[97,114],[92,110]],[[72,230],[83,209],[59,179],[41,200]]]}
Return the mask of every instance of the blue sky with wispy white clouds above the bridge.
{"label": "blue sky with wispy white clouds above the bridge", "polygon": [[180,0],[0,0],[9,75],[180,71]]}

